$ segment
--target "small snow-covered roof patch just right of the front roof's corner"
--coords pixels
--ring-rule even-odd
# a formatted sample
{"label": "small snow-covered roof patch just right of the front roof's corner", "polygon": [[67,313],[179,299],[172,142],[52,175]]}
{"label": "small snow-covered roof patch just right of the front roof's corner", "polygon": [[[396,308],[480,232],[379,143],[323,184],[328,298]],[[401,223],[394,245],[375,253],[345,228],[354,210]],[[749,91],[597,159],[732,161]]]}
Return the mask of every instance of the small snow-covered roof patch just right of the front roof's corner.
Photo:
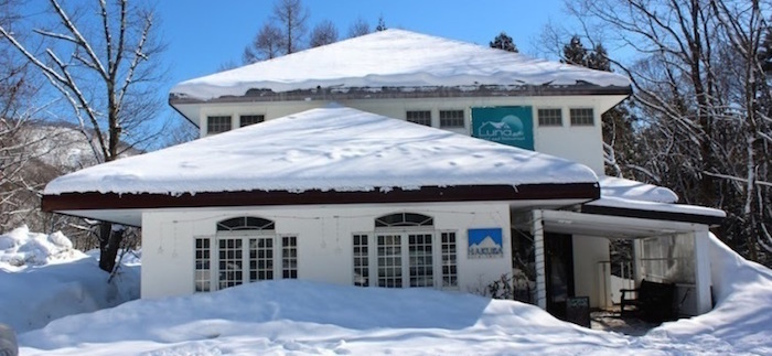
{"label": "small snow-covered roof patch just right of the front roof's corner", "polygon": [[609,175],[600,176],[598,183],[600,183],[602,197],[656,203],[678,202],[678,195],[664,186]]}

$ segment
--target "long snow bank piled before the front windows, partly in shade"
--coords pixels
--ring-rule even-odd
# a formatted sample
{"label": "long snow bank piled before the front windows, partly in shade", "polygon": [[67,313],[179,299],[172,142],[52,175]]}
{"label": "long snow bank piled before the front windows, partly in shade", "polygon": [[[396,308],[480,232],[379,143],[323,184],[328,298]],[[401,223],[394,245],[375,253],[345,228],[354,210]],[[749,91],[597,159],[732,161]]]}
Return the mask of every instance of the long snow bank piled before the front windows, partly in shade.
{"label": "long snow bank piled before the front windows, partly in shade", "polygon": [[[560,322],[533,305],[426,289],[281,280],[139,300],[65,317],[20,336],[24,353],[126,349],[182,354],[566,354],[622,337]],[[76,349],[62,349],[78,345]],[[32,348],[34,347],[34,349]],[[119,348],[122,347],[122,348]],[[130,350],[130,352],[128,352]]]}

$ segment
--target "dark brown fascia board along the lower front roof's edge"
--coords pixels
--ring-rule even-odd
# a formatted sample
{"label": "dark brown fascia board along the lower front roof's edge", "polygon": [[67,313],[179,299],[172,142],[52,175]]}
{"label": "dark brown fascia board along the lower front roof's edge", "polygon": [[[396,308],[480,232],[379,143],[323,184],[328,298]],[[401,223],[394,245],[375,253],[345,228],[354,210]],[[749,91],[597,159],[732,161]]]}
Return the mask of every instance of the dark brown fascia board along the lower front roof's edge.
{"label": "dark brown fascia board along the lower front roof's edge", "polygon": [[523,199],[597,199],[600,190],[596,183],[423,186],[417,190],[390,188],[368,192],[305,191],[242,191],[196,194],[116,194],[64,193],[43,195],[44,212],[75,209],[168,208],[207,206],[260,206],[309,204],[365,203],[433,203]]}

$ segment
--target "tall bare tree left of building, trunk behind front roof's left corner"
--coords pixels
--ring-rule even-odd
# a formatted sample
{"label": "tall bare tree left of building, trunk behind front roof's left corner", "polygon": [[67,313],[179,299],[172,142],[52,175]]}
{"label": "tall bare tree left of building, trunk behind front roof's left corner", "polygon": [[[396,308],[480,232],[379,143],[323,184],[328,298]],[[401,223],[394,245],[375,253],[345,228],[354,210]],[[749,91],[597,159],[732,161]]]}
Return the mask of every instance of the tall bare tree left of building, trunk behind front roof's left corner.
{"label": "tall bare tree left of building, trunk behind front roof's left corner", "polygon": [[[65,8],[60,0],[49,4],[55,22],[31,33],[49,44],[44,48],[22,44],[6,26],[0,34],[58,91],[82,133],[94,142],[96,159],[116,160],[131,147],[121,139],[147,142],[143,128],[161,105],[156,85],[162,71],[152,58],[163,46],[154,37],[153,11],[129,0],[81,3],[78,9]],[[114,269],[122,235],[121,228],[101,224],[101,269]]]}

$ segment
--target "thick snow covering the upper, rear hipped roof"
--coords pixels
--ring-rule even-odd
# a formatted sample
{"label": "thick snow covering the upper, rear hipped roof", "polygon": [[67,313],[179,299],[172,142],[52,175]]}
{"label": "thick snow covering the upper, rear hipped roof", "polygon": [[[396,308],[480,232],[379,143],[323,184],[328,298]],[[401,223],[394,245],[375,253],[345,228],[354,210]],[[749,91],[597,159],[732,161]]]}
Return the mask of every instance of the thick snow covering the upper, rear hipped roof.
{"label": "thick snow covering the upper, rear hipped roof", "polygon": [[201,100],[315,88],[575,86],[629,87],[609,72],[389,29],[182,82],[173,97]]}

